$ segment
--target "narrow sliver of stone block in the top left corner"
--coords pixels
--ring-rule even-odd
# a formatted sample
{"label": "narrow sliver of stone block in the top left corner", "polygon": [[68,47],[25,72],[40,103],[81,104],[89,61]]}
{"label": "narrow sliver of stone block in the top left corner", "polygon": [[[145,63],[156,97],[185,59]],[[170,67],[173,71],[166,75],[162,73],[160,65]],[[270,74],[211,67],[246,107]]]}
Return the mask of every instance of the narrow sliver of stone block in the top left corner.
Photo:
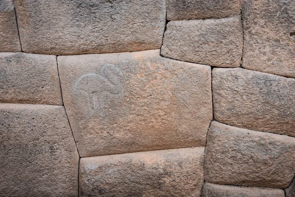
{"label": "narrow sliver of stone block in the top left corner", "polygon": [[0,52],[21,51],[12,0],[0,0]]}

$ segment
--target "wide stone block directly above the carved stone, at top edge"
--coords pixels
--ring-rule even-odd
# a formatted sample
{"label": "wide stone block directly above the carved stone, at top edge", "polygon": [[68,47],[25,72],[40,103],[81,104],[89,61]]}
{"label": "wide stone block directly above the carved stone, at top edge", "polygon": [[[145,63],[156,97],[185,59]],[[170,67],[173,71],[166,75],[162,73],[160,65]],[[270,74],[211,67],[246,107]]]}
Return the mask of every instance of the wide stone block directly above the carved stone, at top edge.
{"label": "wide stone block directly above the carved stone, at top edge", "polygon": [[71,55],[159,49],[165,0],[16,0],[23,51]]}

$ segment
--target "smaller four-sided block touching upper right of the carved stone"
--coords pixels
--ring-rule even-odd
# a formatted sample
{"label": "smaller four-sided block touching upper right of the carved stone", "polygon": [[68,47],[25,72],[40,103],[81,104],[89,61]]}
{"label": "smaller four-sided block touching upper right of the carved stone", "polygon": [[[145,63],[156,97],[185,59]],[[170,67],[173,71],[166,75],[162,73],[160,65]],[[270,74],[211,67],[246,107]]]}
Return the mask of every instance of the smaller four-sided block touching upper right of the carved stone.
{"label": "smaller four-sided block touching upper right of the carved stone", "polygon": [[161,54],[176,60],[209,66],[238,67],[243,35],[240,17],[171,21]]}

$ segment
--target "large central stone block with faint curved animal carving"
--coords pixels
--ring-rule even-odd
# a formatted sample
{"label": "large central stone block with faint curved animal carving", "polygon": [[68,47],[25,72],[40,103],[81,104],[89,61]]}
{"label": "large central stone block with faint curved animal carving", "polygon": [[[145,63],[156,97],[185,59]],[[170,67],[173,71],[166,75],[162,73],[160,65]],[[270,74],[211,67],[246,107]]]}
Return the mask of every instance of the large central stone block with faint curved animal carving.
{"label": "large central stone block with faint curved animal carving", "polygon": [[82,157],[205,146],[210,67],[159,50],[59,56],[65,108]]}

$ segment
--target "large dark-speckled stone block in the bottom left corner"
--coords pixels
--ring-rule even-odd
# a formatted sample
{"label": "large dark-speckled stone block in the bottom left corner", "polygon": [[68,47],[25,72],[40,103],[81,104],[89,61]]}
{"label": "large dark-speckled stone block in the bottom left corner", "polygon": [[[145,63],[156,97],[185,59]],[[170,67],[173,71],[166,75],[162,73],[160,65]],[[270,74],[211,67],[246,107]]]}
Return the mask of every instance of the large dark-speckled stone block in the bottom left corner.
{"label": "large dark-speckled stone block in the bottom left corner", "polygon": [[79,155],[62,106],[0,103],[0,131],[0,196],[78,196]]}

